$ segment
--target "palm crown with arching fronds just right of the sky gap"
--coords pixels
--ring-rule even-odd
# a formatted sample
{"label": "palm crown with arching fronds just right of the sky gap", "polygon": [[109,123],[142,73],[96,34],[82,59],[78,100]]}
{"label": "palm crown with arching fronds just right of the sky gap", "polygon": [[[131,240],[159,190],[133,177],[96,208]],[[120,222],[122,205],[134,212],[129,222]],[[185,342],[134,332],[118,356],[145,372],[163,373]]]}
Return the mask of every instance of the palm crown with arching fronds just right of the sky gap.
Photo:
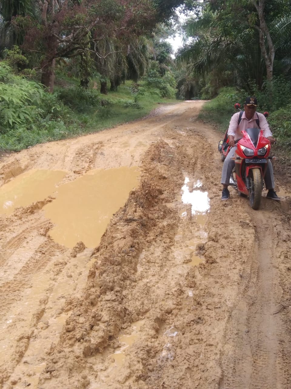
{"label": "palm crown with arching fronds just right of the sky gap", "polygon": [[182,28],[184,39],[191,37],[191,40],[178,50],[180,67],[186,64],[194,75],[230,72],[234,84],[248,88],[249,80],[255,79],[262,86],[265,65],[255,31],[234,30],[227,35],[216,12],[205,13],[200,19],[188,19]]}

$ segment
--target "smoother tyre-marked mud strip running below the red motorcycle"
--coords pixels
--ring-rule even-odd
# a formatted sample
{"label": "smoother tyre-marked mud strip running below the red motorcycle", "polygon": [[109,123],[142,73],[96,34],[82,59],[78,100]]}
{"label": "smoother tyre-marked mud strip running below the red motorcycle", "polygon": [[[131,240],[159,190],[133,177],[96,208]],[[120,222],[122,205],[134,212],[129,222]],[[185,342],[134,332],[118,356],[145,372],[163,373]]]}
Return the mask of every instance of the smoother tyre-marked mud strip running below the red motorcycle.
{"label": "smoother tyre-marked mud strip running below the red motorcycle", "polygon": [[278,208],[263,202],[261,210],[250,210],[255,241],[249,245],[248,267],[241,275],[245,285],[239,303],[225,329],[220,388],[288,388],[291,382],[286,340],[290,335],[281,312],[284,277],[278,255],[278,247],[287,251],[289,247],[286,240],[277,239],[284,219]]}

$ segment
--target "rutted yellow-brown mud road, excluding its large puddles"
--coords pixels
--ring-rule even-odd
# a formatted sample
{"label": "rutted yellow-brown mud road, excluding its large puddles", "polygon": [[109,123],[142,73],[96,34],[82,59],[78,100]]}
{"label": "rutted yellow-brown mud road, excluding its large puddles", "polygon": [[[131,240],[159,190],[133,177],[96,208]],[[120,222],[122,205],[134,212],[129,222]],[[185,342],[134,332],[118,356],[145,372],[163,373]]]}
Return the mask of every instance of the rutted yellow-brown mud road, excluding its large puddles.
{"label": "rutted yellow-brown mud road, excluding its large puddles", "polygon": [[[220,135],[197,122],[202,104],[2,157],[0,191],[32,170],[59,171],[59,188],[140,171],[102,237],[90,228],[92,247],[52,237],[55,187],[1,214],[3,388],[291,387],[291,187],[277,174],[282,202],[258,211],[234,190],[221,202]],[[209,210],[181,201],[186,177]]]}

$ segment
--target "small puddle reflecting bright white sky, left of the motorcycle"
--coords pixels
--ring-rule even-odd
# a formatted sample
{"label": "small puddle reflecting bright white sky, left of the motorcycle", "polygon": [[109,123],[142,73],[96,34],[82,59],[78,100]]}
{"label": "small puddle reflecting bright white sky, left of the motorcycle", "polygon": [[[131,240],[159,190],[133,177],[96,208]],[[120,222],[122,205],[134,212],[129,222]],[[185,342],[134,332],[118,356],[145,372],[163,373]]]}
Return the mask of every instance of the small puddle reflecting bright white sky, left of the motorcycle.
{"label": "small puddle reflecting bright white sky, left of the motorcycle", "polygon": [[[197,181],[197,184],[194,184],[194,190],[191,192],[189,190],[189,186],[187,185],[189,181],[189,178],[186,177],[184,186],[182,186],[182,202],[184,204],[192,205],[192,215],[206,214],[206,212],[210,209],[208,192],[202,192],[199,190],[199,187],[202,186],[202,183],[199,180]],[[186,215],[182,214],[182,216]]]}

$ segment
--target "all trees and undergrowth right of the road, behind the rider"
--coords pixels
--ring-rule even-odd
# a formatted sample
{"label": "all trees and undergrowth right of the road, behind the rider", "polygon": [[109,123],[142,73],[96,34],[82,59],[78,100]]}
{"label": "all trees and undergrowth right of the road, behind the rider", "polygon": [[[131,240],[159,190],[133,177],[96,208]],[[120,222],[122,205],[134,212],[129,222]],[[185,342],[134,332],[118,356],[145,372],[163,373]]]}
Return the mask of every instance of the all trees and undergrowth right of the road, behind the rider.
{"label": "all trees and undergrowth right of the road, behind the rider", "polygon": [[291,8],[289,0],[188,1],[178,89],[184,98],[212,99],[201,112],[224,132],[234,103],[248,95],[284,147],[291,146]]}

